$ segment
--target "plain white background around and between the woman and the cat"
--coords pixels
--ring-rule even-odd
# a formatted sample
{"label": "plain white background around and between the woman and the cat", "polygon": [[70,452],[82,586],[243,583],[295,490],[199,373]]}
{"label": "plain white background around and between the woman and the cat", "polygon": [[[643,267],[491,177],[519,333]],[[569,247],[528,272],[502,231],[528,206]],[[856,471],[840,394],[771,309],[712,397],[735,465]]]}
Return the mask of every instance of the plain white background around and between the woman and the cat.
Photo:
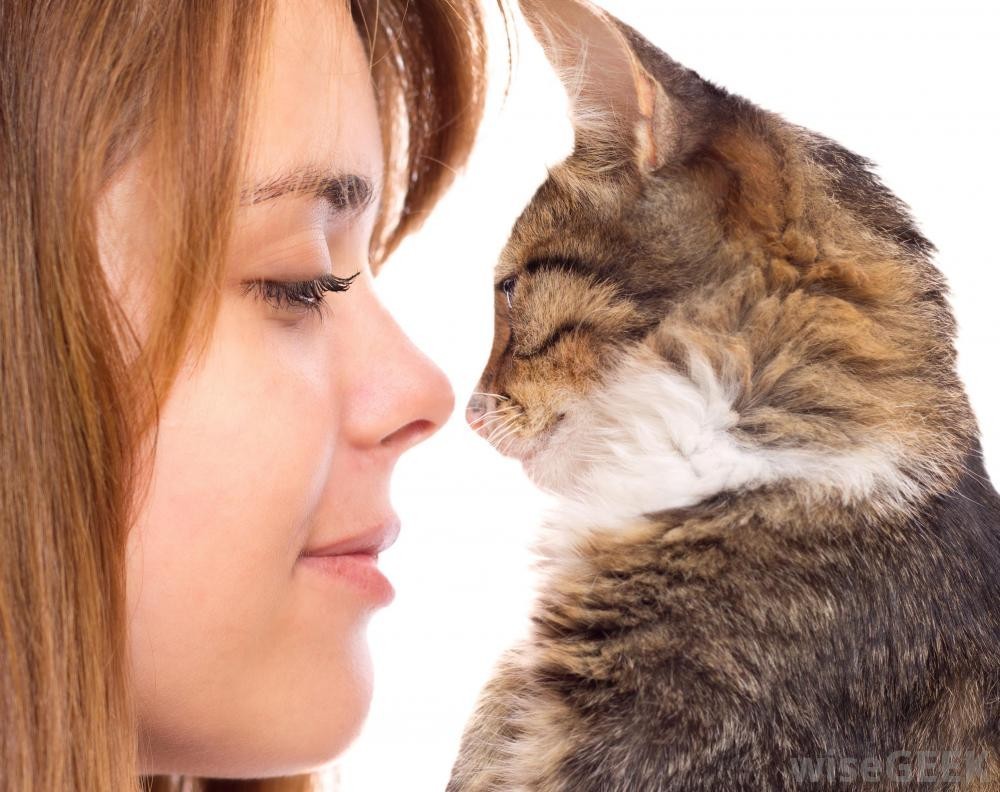
{"label": "plain white background around and between the woman and the cat", "polygon": [[[1000,481],[1000,111],[989,77],[1000,25],[991,4],[603,5],[703,77],[878,163],[939,249],[959,321],[960,374],[987,469]],[[527,545],[545,501],[462,413],[490,346],[493,263],[545,167],[568,153],[571,131],[561,87],[520,22],[514,81],[501,104],[501,49],[468,167],[378,279],[400,323],[448,373],[458,408],[394,477],[403,531],[379,563],[397,596],[369,628],[368,721],[330,774],[339,773],[345,792],[443,790],[479,687],[523,631],[531,600]]]}

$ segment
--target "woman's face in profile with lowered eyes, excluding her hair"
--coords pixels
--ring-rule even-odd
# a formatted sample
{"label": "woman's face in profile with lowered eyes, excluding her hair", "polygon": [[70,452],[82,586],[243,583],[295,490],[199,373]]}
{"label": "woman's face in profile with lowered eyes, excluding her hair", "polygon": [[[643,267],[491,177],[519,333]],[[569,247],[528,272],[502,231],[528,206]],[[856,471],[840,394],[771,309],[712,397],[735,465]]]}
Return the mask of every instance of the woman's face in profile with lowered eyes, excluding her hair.
{"label": "woman's face in profile with lowered eyes, excluding her hair", "polygon": [[[239,211],[210,349],[161,411],[130,534],[146,773],[290,774],[357,734],[371,693],[366,623],[392,596],[365,555],[395,535],[397,458],[452,408],[442,373],[372,291],[375,203],[341,200],[360,183],[346,177],[378,189],[382,149],[367,57],[334,5],[281,4],[252,130],[257,202]],[[277,194],[284,174],[303,173],[314,187],[334,179],[327,199]],[[155,200],[137,161],[102,204],[102,255],[121,283],[149,261],[143,207]],[[325,295],[322,319],[242,288],[359,271],[349,291]],[[125,292],[138,321],[137,299]],[[330,546],[338,557],[310,555]]]}

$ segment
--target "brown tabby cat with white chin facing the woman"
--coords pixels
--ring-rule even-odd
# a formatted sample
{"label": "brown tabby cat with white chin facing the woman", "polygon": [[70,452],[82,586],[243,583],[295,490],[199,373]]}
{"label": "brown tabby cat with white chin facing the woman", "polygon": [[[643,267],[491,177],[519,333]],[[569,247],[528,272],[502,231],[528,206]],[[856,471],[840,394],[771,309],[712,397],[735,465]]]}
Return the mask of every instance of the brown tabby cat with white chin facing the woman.
{"label": "brown tabby cat with white chin facing the woman", "polygon": [[1000,496],[933,245],[869,160],[521,5],[575,145],[467,417],[560,506],[448,792],[1000,789]]}

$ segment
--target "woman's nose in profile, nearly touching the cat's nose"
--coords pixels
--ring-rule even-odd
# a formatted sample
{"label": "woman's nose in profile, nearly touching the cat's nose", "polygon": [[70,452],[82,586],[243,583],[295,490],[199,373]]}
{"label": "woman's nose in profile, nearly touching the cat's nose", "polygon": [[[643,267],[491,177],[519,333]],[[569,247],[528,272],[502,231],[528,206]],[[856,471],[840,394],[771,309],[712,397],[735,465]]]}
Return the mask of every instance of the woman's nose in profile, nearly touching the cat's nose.
{"label": "woman's nose in profile, nearly touching the cat's nose", "polygon": [[347,376],[348,427],[356,443],[400,454],[434,434],[451,415],[455,395],[444,372],[421,352],[374,294]]}

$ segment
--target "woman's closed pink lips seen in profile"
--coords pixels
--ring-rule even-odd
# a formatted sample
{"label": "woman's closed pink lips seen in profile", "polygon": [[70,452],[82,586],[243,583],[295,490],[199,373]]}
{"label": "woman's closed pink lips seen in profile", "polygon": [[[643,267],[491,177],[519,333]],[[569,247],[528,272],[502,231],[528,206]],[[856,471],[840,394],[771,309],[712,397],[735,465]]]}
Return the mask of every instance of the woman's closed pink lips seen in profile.
{"label": "woman's closed pink lips seen in profile", "polygon": [[299,557],[305,566],[350,584],[375,605],[388,605],[396,595],[378,568],[378,554],[399,536],[399,519],[392,515],[363,534],[306,549]]}

